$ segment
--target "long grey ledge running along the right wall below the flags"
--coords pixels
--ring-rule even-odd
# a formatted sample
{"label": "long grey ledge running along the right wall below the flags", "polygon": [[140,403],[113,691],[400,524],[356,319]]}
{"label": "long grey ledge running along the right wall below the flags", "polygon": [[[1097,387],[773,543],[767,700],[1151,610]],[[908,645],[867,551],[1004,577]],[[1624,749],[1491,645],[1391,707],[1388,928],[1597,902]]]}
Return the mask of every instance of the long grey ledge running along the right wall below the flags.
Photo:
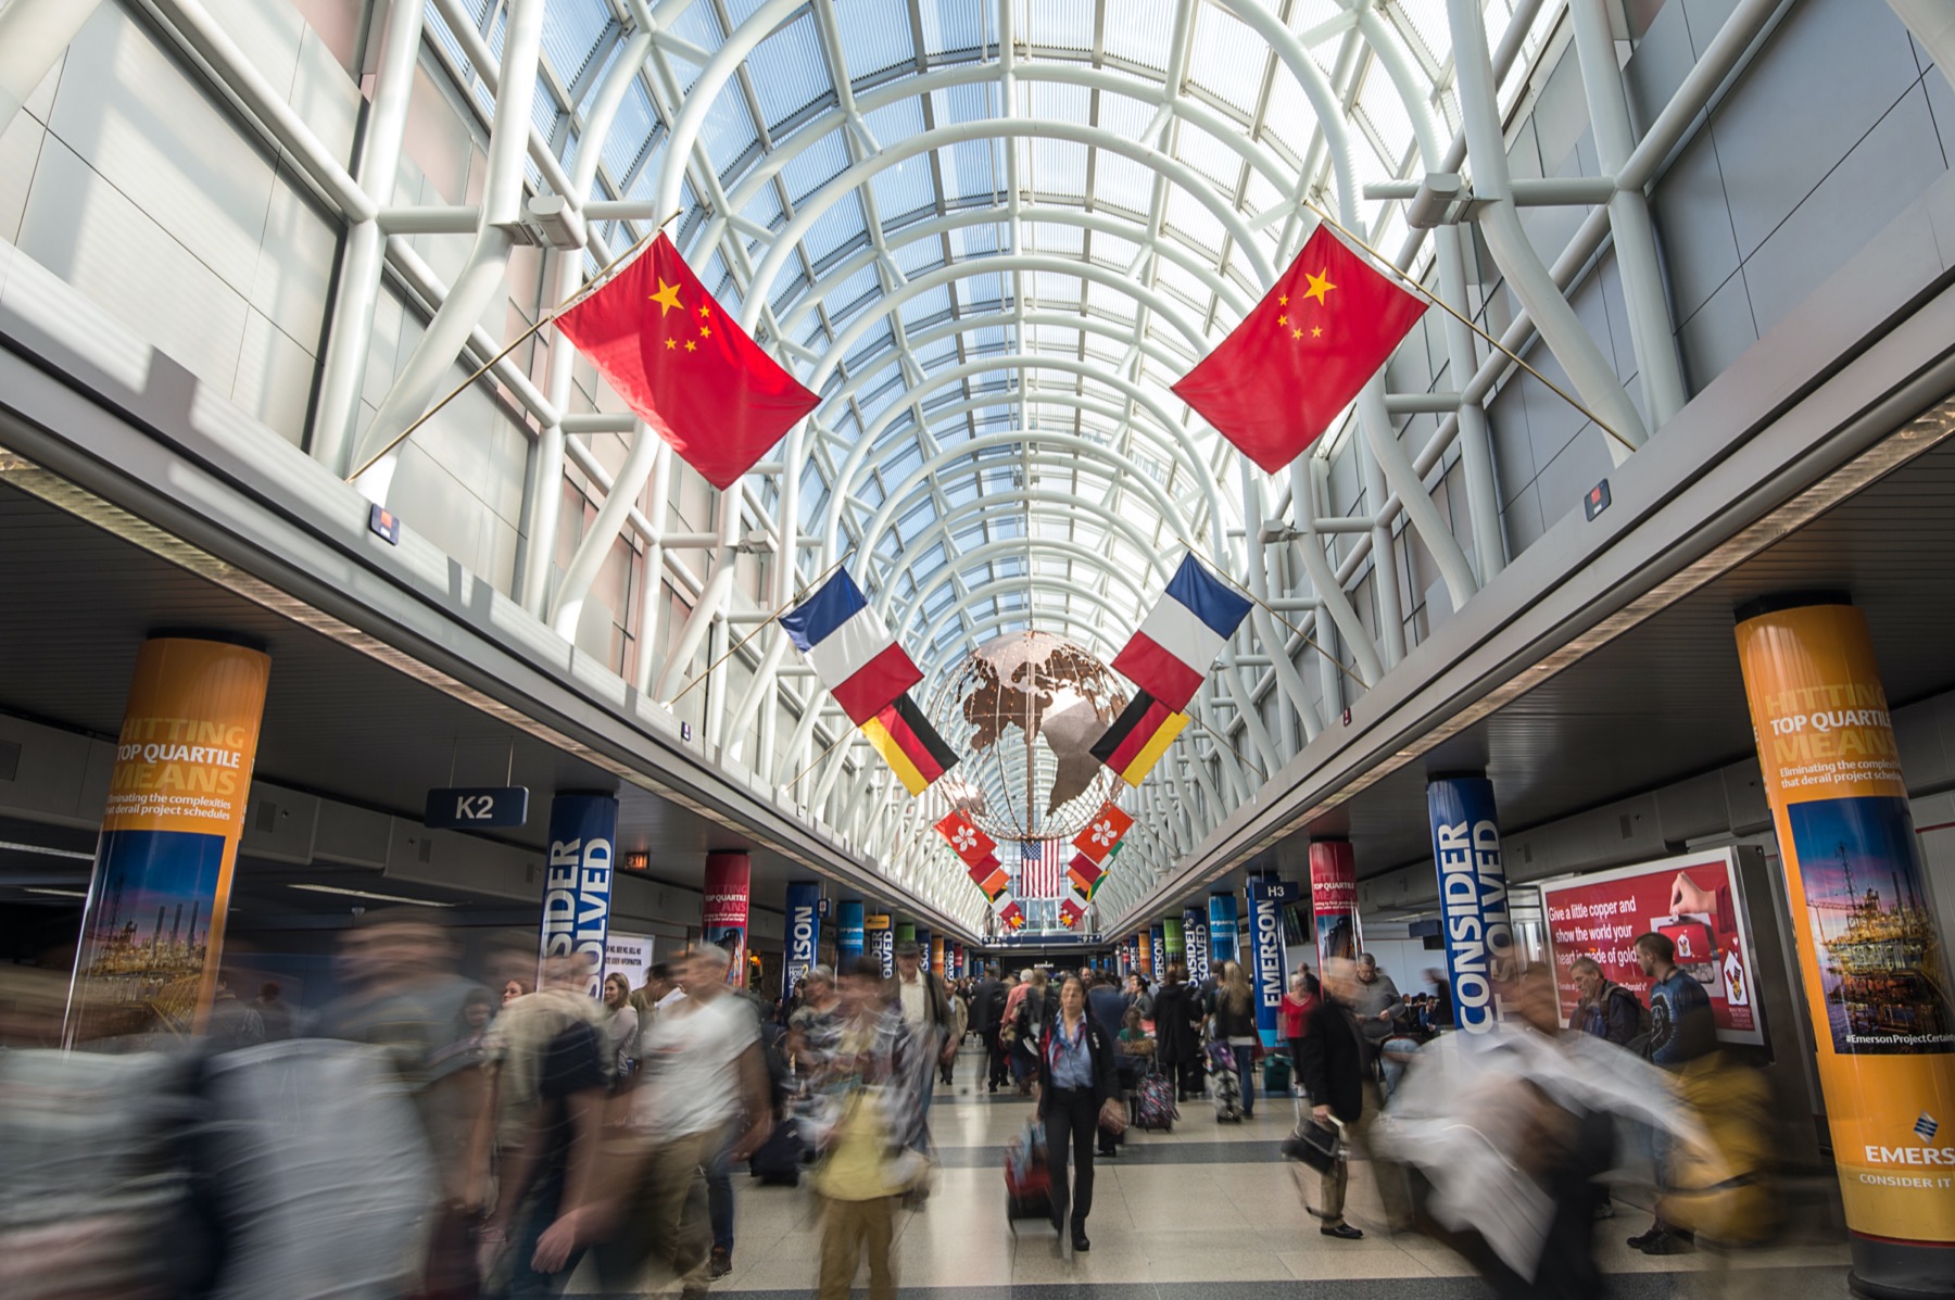
{"label": "long grey ledge running along the right wall below the flags", "polygon": [[[1126,915],[1206,889],[1208,880],[1945,440],[1955,432],[1955,403],[1933,403],[1955,389],[1949,340],[1955,289],[1941,289],[1791,405],[1783,385],[1771,385],[1785,358],[1742,358],[1660,442],[1611,473],[1615,508],[1595,522],[1564,516],[1361,696],[1349,727],[1324,731],[1290,760],[1271,782],[1286,794],[1238,809]],[[1746,375],[1748,364],[1761,373]],[[1578,559],[1564,563],[1568,555]],[[1421,659],[1433,661],[1429,671],[1419,671]]]}

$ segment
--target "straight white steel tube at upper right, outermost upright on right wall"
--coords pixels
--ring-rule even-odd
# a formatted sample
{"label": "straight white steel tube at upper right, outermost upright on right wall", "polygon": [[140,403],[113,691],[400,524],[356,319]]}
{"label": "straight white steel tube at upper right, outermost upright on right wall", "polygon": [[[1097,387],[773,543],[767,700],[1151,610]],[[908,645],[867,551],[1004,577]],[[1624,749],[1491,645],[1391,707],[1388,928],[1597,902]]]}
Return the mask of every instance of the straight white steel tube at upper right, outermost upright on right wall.
{"label": "straight white steel tube at upper right, outermost upright on right wall", "polygon": [[[1629,156],[1636,152],[1636,135],[1629,123],[1629,98],[1605,4],[1607,0],[1572,0],[1568,14],[1574,20],[1576,59],[1595,131],[1595,160],[1603,176],[1621,176]],[[1623,307],[1629,313],[1642,401],[1650,412],[1650,428],[1660,430],[1683,411],[1683,362],[1670,332],[1670,299],[1664,295],[1664,272],[1656,258],[1656,223],[1650,221],[1650,199],[1640,188],[1619,188],[1609,197],[1609,231],[1615,235],[1615,264],[1623,280]]]}

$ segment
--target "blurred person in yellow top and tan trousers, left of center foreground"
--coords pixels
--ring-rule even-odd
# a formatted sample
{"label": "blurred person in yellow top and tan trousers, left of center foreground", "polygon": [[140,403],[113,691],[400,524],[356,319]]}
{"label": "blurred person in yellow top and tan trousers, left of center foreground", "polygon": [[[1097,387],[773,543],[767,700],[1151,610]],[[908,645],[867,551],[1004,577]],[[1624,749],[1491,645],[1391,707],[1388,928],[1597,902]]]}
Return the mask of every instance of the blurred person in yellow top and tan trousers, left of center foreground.
{"label": "blurred person in yellow top and tan trousers, left of center foreground", "polygon": [[813,1177],[821,1198],[817,1300],[848,1300],[864,1255],[870,1300],[895,1300],[895,1210],[923,1163],[913,1153],[923,1116],[907,1058],[927,1040],[919,1042],[886,997],[876,958],[843,972],[835,1020],[837,1050],[823,1091],[839,1118],[819,1136],[823,1159]]}

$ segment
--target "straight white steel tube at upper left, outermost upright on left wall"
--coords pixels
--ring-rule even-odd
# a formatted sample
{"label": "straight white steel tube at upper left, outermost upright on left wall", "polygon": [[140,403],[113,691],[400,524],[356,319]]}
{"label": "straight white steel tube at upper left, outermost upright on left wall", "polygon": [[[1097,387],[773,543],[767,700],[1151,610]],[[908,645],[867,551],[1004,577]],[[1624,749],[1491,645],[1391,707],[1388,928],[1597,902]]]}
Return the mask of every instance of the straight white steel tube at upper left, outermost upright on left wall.
{"label": "straight white steel tube at upper left, outermost upright on left wall", "polygon": [[[420,27],[426,0],[395,0],[387,10],[387,35],[379,47],[373,104],[360,131],[360,166],[354,180],[385,205],[393,199],[393,180],[401,170],[401,141],[407,111],[414,102],[414,61],[420,55]],[[332,297],[332,328],[326,330],[325,364],[319,375],[319,407],[313,416],[313,459],[344,477],[352,465],[354,430],[360,422],[360,391],[373,342],[373,307],[387,252],[387,233],[379,215],[346,227],[340,254],[340,282]],[[559,465],[561,473],[561,465]]]}

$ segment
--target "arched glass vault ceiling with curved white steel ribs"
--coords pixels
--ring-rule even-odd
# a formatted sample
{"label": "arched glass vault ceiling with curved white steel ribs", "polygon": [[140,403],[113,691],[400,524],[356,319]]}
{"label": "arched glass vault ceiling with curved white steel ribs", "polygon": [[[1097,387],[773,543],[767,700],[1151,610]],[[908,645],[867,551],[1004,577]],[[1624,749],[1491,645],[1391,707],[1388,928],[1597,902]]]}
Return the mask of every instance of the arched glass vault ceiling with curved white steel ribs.
{"label": "arched glass vault ceiling with curved white steel ribs", "polygon": [[[1523,41],[1503,108],[1560,8],[1488,0],[1490,43]],[[489,104],[454,33],[499,53],[502,0],[436,0],[430,22]],[[850,567],[927,671],[1024,626],[1110,655],[1153,569],[1230,549],[1234,454],[1167,385],[1310,235],[1298,199],[1349,213],[1421,170],[1415,117],[1458,125],[1439,0],[551,0],[534,125],[565,162],[645,29],[590,199],[647,219],[604,242],[655,225],[674,123],[729,37],[751,45],[671,229],[819,385],[805,463],[762,504],[827,543],[809,571],[874,555]],[[1357,217],[1400,246],[1402,203]]]}

